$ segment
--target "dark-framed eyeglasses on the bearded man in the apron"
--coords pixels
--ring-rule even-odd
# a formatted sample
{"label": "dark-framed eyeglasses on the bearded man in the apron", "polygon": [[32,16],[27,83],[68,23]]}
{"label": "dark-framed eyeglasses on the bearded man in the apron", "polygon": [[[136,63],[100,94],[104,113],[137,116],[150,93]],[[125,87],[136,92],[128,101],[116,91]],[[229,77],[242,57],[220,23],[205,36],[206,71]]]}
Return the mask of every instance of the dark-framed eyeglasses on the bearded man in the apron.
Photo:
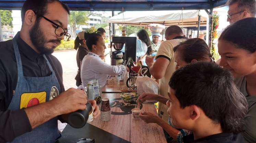
{"label": "dark-framed eyeglasses on the bearded man in the apron", "polygon": [[[35,13],[35,14],[36,14],[36,13]],[[46,18],[46,17],[44,17],[44,16],[42,16],[42,15],[38,15],[38,16],[44,18],[45,20],[51,22],[54,26],[56,26],[56,28],[55,28],[55,34],[56,34],[57,36],[61,37],[62,35],[64,35],[64,41],[69,41],[71,35],[70,35],[67,31],[65,31],[64,28],[62,28],[62,27],[61,27],[60,25],[58,25],[57,23],[51,21],[50,19],[48,19],[48,18]]]}

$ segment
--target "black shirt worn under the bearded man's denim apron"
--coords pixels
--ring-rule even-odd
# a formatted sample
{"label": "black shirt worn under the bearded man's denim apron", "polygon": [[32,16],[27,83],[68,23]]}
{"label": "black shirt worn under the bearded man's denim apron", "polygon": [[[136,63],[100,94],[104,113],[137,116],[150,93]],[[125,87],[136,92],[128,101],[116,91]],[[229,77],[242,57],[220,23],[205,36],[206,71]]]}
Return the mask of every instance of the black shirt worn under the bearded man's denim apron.
{"label": "black shirt worn under the bearded man's denim apron", "polygon": [[[26,77],[46,77],[51,74],[43,55],[35,52],[20,37],[17,38],[23,73]],[[61,63],[53,55],[46,55],[50,62],[61,92],[65,91]],[[32,130],[24,109],[7,110],[17,84],[17,63],[12,40],[0,42],[0,142],[12,141]]]}

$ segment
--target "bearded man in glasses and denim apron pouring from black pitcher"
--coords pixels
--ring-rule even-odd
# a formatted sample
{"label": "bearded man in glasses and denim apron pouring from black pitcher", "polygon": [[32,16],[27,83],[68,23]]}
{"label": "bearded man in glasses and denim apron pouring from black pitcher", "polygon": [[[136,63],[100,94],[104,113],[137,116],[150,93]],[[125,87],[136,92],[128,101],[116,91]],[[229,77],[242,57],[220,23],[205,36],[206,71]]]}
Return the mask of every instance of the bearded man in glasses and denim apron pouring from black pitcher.
{"label": "bearded man in glasses and denim apron pouring from black pitcher", "polygon": [[[58,119],[86,109],[82,90],[65,91],[60,62],[51,53],[68,40],[69,8],[59,0],[26,0],[22,28],[0,43],[0,142],[52,143]],[[94,117],[99,115],[95,100]]]}

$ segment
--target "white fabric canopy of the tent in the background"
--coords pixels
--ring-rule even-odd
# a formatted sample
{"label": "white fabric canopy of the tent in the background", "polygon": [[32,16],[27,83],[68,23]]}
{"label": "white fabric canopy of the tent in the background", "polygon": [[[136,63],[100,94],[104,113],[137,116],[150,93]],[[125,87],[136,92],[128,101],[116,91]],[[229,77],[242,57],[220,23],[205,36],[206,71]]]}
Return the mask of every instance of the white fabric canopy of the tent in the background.
{"label": "white fabric canopy of the tent in the background", "polygon": [[[123,25],[146,26],[152,23],[159,23],[166,27],[180,25],[181,27],[197,27],[198,14],[201,15],[200,26],[206,26],[208,18],[204,10],[182,11],[126,11],[109,19],[110,23]],[[182,22],[183,21],[183,22]],[[180,24],[179,24],[180,22]]]}

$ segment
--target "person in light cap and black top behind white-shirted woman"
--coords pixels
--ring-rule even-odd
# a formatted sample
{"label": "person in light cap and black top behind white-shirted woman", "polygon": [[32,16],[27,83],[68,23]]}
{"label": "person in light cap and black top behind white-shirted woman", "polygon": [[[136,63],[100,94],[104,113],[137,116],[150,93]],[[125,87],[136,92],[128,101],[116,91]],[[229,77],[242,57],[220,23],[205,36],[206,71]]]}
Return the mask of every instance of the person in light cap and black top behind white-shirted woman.
{"label": "person in light cap and black top behind white-shirted woman", "polygon": [[82,80],[81,80],[81,64],[83,61],[83,58],[85,55],[88,54],[88,48],[86,45],[86,39],[88,37],[88,33],[86,33],[85,31],[81,31],[77,34],[76,39],[75,39],[75,47],[74,49],[78,49],[77,53],[76,53],[76,63],[77,63],[77,74],[75,77],[76,80],[76,86],[79,86],[82,84]]}

